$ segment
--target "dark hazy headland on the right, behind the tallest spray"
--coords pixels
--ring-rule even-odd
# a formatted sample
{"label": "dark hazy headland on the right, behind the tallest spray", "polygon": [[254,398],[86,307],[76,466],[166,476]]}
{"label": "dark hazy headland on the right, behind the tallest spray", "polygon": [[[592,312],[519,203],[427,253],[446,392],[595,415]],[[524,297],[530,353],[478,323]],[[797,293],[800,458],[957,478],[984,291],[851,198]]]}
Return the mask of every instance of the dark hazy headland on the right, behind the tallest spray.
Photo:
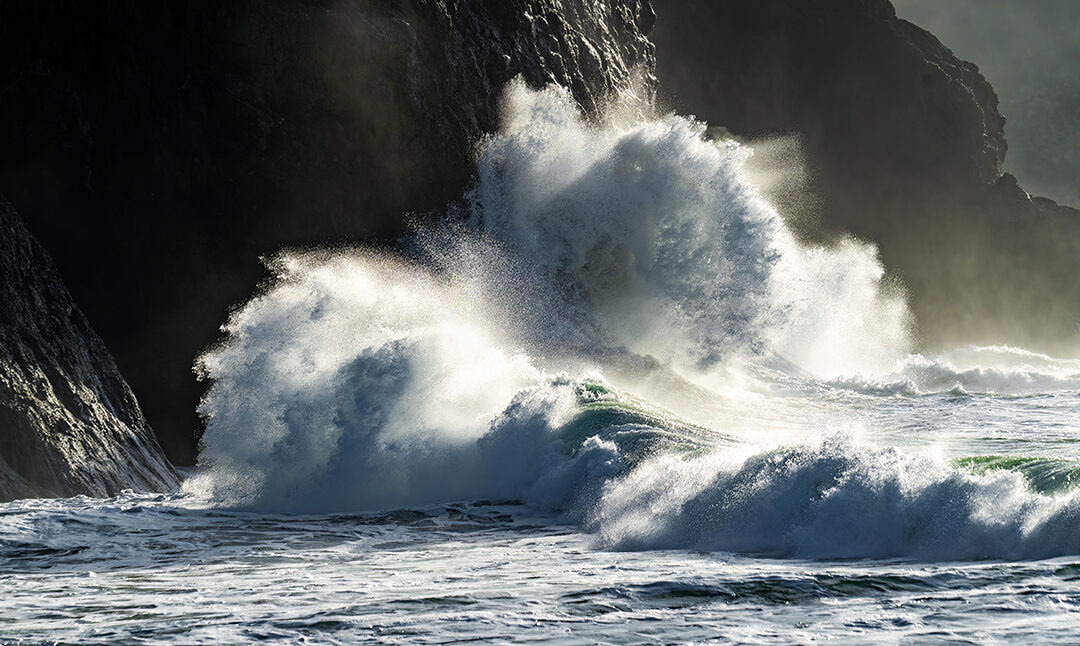
{"label": "dark hazy headland on the right, behind the tallest spray", "polygon": [[888,0],[656,6],[675,105],[751,140],[797,134],[815,200],[782,210],[877,243],[929,345],[1080,348],[1080,213],[1001,175],[1004,119],[974,65]]}

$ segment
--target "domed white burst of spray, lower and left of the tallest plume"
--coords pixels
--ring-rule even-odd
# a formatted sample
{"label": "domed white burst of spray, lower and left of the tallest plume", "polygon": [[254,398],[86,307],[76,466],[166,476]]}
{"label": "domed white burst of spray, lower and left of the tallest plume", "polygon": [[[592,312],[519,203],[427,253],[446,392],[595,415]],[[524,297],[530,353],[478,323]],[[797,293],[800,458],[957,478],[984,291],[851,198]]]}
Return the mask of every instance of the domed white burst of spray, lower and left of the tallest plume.
{"label": "domed white burst of spray, lower and left of the tallest plume", "polygon": [[214,385],[191,487],[228,504],[386,509],[519,493],[562,455],[548,431],[569,387],[500,350],[443,281],[370,255],[274,270],[201,360]]}

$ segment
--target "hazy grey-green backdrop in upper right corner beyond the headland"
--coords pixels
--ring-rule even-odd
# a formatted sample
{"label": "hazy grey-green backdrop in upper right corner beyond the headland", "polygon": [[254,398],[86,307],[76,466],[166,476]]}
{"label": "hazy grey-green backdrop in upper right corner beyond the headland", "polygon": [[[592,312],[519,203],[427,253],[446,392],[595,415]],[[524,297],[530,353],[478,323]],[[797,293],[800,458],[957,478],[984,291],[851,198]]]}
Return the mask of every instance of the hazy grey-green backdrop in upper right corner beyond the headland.
{"label": "hazy grey-green backdrop in upper right corner beyond the headland", "polygon": [[978,66],[1008,119],[1005,170],[1080,207],[1080,0],[893,0]]}

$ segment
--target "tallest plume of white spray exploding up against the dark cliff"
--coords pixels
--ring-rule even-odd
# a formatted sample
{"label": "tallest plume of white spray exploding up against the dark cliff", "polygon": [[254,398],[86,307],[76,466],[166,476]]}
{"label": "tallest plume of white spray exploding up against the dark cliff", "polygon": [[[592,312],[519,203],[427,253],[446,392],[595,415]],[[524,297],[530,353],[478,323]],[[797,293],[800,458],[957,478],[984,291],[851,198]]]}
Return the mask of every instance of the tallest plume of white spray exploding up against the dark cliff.
{"label": "tallest plume of white spray exploding up against the dark cliff", "polygon": [[557,88],[512,83],[507,104],[465,205],[416,243],[532,352],[684,373],[778,352],[840,375],[909,350],[875,250],[799,244],[746,178],[750,149],[676,116],[593,125]]}

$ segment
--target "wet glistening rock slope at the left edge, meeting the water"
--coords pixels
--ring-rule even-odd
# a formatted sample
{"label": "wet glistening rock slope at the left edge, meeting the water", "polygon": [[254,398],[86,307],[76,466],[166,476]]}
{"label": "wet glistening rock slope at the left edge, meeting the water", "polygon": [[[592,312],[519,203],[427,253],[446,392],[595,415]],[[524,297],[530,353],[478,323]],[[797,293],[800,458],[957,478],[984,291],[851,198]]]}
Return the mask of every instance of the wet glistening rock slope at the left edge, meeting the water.
{"label": "wet glistening rock slope at the left edge, meeting the water", "polygon": [[0,500],[178,484],[52,260],[0,200]]}

